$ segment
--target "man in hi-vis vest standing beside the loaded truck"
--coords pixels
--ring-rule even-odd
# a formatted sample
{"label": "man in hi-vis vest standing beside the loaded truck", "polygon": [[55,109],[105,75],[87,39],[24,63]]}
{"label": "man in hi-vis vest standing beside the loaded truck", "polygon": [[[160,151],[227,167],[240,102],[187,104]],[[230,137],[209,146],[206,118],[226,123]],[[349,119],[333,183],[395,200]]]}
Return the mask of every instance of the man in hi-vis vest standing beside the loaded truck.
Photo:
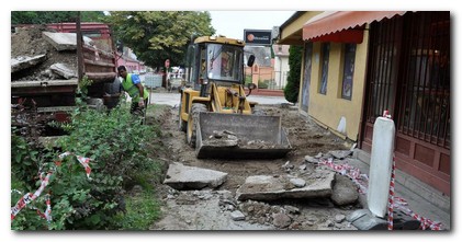
{"label": "man in hi-vis vest standing beside the loaded truck", "polygon": [[129,113],[145,116],[149,92],[143,87],[137,74],[127,73],[125,66],[117,67],[117,72],[123,78],[123,90],[132,97]]}

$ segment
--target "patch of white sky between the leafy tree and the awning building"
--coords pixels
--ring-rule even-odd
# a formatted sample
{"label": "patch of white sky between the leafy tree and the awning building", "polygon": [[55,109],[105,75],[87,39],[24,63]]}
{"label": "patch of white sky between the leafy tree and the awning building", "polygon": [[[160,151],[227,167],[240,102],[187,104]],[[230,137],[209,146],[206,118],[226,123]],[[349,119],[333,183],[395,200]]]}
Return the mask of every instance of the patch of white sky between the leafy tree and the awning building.
{"label": "patch of white sky between the leafy tree and the awning building", "polygon": [[281,26],[295,11],[210,11],[217,35],[244,39],[244,30],[272,30]]}

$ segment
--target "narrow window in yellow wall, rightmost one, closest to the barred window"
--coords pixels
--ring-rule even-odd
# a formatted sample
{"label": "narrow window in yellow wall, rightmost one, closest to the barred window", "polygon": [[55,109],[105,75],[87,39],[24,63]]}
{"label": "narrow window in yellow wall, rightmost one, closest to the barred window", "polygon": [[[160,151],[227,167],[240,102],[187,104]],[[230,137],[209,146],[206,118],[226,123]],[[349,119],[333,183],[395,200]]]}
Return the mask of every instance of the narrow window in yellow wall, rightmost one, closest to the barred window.
{"label": "narrow window in yellow wall, rightmost one, closest to the barred window", "polygon": [[356,44],[346,44],[343,50],[343,81],[341,85],[341,97],[351,100],[353,90],[354,56],[357,51]]}

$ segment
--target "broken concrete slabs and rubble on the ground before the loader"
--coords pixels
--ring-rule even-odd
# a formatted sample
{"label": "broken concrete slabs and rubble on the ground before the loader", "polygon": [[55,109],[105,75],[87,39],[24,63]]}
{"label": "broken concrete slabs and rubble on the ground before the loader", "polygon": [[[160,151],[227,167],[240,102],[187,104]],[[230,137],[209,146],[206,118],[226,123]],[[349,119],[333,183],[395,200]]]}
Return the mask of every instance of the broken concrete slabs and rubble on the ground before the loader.
{"label": "broken concrete slabs and rubble on the ground before the loader", "polygon": [[[346,162],[350,154],[350,151],[333,151],[326,154],[319,153],[316,158],[307,155],[305,161],[298,164],[288,161],[282,165],[281,169],[286,175],[248,176],[246,182],[237,188],[235,196],[232,195],[232,192],[227,192],[227,196],[223,196],[223,194],[219,196],[219,212],[225,212],[234,221],[246,221],[274,229],[356,230],[346,220],[346,216],[349,210],[363,207],[363,200],[360,199],[357,191],[358,187],[348,177],[336,174],[327,168],[316,165],[319,160],[327,158],[334,158],[337,162]],[[221,178],[210,178],[214,175],[204,175],[204,172],[217,173]],[[187,176],[185,173],[188,173]],[[164,182],[164,184],[173,188],[171,191],[196,188],[205,188],[206,191],[174,191],[167,196],[167,199],[176,200],[177,205],[178,203],[184,204],[183,200],[179,201],[179,197],[185,196],[188,193],[206,193],[206,196],[201,196],[200,199],[191,198],[192,200],[189,200],[188,204],[212,199],[211,197],[214,197],[216,192],[210,189],[214,189],[226,182],[226,176],[227,174],[221,174],[217,171],[173,163],[170,165]],[[204,181],[198,181],[200,177],[203,177]],[[196,184],[201,184],[201,186],[196,187]],[[293,201],[298,206],[273,204],[277,200],[294,198]],[[319,209],[337,207],[340,210],[331,214],[331,217],[323,219],[315,214],[309,216],[301,214],[301,209],[309,207],[318,207]]]}

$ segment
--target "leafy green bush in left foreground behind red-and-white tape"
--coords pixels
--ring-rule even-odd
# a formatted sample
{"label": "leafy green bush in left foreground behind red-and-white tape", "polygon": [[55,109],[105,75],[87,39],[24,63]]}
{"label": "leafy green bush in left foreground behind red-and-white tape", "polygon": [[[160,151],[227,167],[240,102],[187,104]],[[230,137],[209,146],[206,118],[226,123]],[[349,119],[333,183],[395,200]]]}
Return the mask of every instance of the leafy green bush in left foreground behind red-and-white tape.
{"label": "leafy green bush in left foreground behind red-and-white tape", "polygon": [[[40,181],[29,184],[27,177],[37,176],[37,170],[33,170],[53,171],[43,196],[31,203],[44,210],[45,194],[49,192],[53,221],[46,223],[24,208],[13,220],[13,230],[120,229],[122,223],[116,218],[125,211],[124,184],[137,180],[138,173],[157,169],[145,149],[145,143],[157,132],[153,126],[140,125],[140,119],[132,116],[126,107],[117,106],[104,113],[81,106],[74,112],[67,127],[69,136],[58,141],[59,152],[36,150],[22,137],[12,139],[12,188],[33,193],[40,186]],[[90,158],[91,178],[87,177],[76,155],[66,157],[57,165],[59,162],[54,161],[64,151]],[[29,168],[31,162],[34,165]],[[12,206],[21,196],[12,194]]]}

